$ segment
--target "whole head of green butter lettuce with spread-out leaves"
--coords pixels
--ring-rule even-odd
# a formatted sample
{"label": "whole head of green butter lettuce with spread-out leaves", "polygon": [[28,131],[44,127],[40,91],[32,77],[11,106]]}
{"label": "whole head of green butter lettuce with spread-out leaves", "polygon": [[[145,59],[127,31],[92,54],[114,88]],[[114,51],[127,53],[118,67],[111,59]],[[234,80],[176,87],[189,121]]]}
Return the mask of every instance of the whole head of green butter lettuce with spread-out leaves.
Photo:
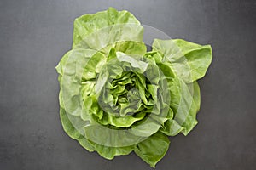
{"label": "whole head of green butter lettuce with spread-out leaves", "polygon": [[134,151],[151,167],[168,136],[197,124],[200,88],[212,48],[181,39],[143,42],[143,26],[109,8],[74,21],[73,48],[56,66],[65,132],[86,150],[113,159]]}

